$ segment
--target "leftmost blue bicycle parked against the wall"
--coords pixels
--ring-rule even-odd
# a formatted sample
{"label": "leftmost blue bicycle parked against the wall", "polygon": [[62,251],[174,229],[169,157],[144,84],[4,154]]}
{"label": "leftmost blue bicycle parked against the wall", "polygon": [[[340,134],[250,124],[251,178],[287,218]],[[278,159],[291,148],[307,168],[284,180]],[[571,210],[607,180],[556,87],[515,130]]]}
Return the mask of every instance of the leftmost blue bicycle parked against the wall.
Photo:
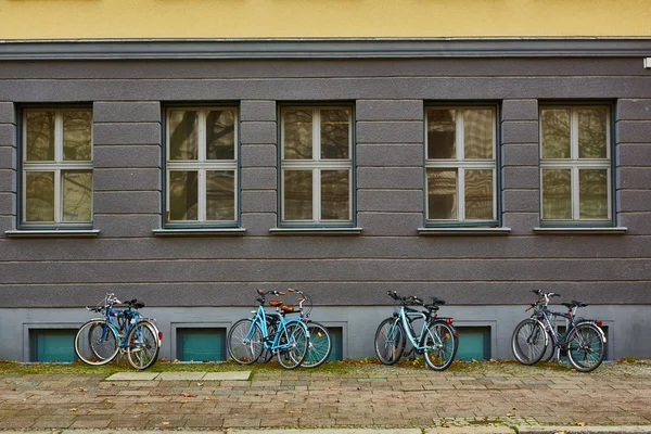
{"label": "leftmost blue bicycle parked against the wall", "polygon": [[[126,308],[116,308],[119,304]],[[138,311],[142,307],[142,302],[123,303],[112,293],[107,293],[98,306],[87,307],[102,314],[103,318],[93,318],[79,328],[75,336],[77,357],[87,365],[100,366],[115,359],[118,353],[126,353],[135,369],[151,367],[158,357],[163,333],[154,319],[143,318]]]}

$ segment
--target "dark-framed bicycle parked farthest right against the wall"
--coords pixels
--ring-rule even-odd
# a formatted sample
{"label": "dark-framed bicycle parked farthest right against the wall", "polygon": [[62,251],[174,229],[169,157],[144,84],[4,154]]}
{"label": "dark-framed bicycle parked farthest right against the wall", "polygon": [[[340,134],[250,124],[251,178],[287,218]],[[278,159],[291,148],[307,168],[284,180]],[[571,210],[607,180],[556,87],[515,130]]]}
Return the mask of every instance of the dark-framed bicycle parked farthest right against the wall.
{"label": "dark-framed bicycle parked farthest right against the wall", "polygon": [[[550,355],[545,357],[545,361],[554,356],[560,360],[561,353],[566,353],[570,365],[577,371],[590,372],[597,369],[605,355],[607,337],[601,329],[601,321],[576,317],[576,310],[588,305],[572,301],[561,303],[567,308],[566,312],[554,311],[549,309],[549,301],[560,294],[544,293],[540,290],[532,292],[539,298],[526,310],[534,309],[534,314],[515,327],[511,337],[511,349],[515,359],[522,365],[534,365],[551,350]],[[564,333],[556,331],[557,318],[565,320]]]}

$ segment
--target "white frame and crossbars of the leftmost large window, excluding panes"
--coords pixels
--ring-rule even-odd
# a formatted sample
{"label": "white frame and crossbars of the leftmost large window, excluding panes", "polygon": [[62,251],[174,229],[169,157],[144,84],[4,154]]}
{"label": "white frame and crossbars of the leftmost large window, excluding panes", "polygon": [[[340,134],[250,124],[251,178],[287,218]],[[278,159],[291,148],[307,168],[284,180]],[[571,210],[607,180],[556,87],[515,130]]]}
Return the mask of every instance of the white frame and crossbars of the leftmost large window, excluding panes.
{"label": "white frame and crossbars of the leftmost large window, excluding panes", "polygon": [[[23,126],[22,126],[22,192],[21,192],[21,225],[25,227],[41,227],[41,226],[62,226],[62,227],[90,227],[94,216],[93,212],[93,193],[94,190],[91,187],[90,192],[90,220],[89,221],[63,221],[63,181],[62,171],[72,170],[90,170],[93,177],[94,183],[94,170],[93,170],[93,122],[91,117],[90,123],[90,161],[64,161],[63,159],[63,114],[65,112],[79,112],[89,111],[92,115],[92,108],[90,107],[66,107],[55,108],[51,106],[43,107],[30,107],[23,110]],[[54,161],[27,161],[27,113],[29,112],[54,112]],[[54,221],[26,221],[27,217],[27,173],[34,171],[53,171],[54,173]]]}

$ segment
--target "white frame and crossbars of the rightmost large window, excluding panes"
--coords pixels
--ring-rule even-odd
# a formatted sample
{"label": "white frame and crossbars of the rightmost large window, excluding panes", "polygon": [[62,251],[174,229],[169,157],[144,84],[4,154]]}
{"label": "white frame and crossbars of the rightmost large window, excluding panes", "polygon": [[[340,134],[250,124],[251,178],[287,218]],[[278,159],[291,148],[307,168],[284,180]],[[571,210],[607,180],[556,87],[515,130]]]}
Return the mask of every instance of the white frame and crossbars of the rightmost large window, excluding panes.
{"label": "white frame and crossbars of the rightmost large window, excluding panes", "polygon": [[[605,158],[579,158],[578,157],[578,111],[586,108],[605,110]],[[547,224],[576,224],[582,221],[609,222],[613,219],[612,204],[612,163],[611,163],[611,107],[609,105],[541,105],[538,112],[538,118],[542,119],[544,110],[570,110],[570,158],[542,158],[542,125],[539,128],[539,158],[540,158],[540,221]],[[542,171],[545,169],[565,169],[570,170],[572,219],[550,219],[545,218],[542,212]],[[582,219],[580,200],[579,200],[579,177],[582,169],[605,169],[607,177],[607,203],[608,217],[602,219]]]}

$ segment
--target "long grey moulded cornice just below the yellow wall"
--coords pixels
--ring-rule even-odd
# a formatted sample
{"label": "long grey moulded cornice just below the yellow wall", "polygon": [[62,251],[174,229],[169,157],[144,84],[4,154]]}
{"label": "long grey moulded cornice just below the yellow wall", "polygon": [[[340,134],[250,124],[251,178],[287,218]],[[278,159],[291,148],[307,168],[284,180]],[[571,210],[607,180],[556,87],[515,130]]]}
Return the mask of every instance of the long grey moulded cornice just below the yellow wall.
{"label": "long grey moulded cornice just below the yellow wall", "polygon": [[649,38],[4,40],[2,60],[648,56]]}

